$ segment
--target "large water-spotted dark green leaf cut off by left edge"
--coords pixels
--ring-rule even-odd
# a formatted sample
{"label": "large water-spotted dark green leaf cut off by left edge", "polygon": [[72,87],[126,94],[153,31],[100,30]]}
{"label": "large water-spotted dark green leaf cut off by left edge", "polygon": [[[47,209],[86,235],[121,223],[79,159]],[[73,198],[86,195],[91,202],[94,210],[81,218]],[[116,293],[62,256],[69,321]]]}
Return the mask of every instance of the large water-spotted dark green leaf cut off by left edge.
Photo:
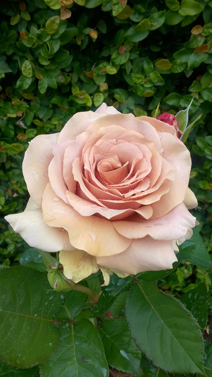
{"label": "large water-spotted dark green leaf cut off by left edge", "polygon": [[49,289],[46,273],[24,266],[2,269],[0,281],[0,357],[19,368],[44,362],[59,341],[52,319],[63,299]]}

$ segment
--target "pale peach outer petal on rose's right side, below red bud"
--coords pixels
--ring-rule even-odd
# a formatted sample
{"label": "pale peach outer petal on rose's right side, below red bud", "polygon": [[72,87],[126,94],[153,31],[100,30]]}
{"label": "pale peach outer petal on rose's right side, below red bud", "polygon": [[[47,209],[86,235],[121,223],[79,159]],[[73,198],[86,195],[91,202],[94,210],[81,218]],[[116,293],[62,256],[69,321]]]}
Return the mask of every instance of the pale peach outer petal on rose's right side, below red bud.
{"label": "pale peach outer petal on rose's right side, below red bud", "polygon": [[175,179],[171,182],[169,192],[153,203],[153,219],[166,215],[172,208],[183,202],[191,170],[191,157],[183,143],[178,143],[171,133],[163,133],[161,139],[163,158],[176,168]]}

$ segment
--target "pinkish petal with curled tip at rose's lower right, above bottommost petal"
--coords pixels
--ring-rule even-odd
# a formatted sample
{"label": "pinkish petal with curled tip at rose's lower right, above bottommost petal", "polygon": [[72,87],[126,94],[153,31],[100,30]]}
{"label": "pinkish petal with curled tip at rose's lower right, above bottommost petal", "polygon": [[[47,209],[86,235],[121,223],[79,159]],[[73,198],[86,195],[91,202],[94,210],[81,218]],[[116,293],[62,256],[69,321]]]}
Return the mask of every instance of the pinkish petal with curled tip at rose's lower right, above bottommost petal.
{"label": "pinkish petal with curled tip at rose's lower right, above bottommost petal", "polygon": [[173,240],[185,236],[189,228],[194,228],[195,220],[181,203],[161,218],[144,220],[133,215],[126,221],[113,222],[113,226],[127,238],[143,238],[149,234],[154,239]]}

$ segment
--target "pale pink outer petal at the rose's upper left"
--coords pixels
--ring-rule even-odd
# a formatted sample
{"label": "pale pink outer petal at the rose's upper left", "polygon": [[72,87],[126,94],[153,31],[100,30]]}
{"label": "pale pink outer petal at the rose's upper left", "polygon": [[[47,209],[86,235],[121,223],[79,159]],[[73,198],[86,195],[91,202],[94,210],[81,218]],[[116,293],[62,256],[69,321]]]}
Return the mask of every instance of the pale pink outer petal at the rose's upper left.
{"label": "pale pink outer petal at the rose's upper left", "polygon": [[88,126],[98,120],[105,114],[93,111],[79,112],[67,121],[61,132],[59,133],[57,144],[64,143],[67,140],[75,140],[77,135],[87,130]]}

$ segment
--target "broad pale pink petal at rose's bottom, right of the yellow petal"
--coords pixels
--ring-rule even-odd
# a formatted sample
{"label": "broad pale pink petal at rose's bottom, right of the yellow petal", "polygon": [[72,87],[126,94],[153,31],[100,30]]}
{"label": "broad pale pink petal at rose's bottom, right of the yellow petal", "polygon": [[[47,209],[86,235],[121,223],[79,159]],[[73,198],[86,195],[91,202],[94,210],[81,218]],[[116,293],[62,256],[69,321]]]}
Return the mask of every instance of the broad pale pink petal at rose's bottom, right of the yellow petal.
{"label": "broad pale pink petal at rose's bottom, right of the yellow petal", "polygon": [[146,236],[133,240],[130,247],[123,253],[110,257],[97,257],[96,261],[111,270],[118,270],[128,274],[143,271],[160,271],[172,268],[177,261],[172,241],[158,241]]}

